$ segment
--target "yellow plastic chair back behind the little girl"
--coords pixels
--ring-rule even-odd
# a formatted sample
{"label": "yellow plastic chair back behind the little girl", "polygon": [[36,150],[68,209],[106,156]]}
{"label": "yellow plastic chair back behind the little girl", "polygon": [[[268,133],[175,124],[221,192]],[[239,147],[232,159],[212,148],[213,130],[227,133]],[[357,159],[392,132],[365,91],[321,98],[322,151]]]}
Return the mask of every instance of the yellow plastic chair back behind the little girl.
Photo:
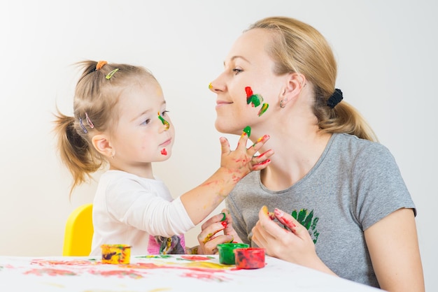
{"label": "yellow plastic chair back behind the little girl", "polygon": [[64,233],[63,256],[89,256],[94,228],[92,221],[93,205],[77,207],[67,219]]}

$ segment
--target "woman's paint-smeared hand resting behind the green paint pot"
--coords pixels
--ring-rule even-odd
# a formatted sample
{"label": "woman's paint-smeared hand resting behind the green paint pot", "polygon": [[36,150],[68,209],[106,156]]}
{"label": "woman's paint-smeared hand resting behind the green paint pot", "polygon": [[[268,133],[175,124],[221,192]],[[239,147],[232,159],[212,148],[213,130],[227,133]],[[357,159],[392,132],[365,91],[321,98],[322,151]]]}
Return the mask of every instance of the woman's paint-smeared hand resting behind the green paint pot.
{"label": "woman's paint-smeared hand resting behind the green paint pot", "polygon": [[[241,242],[239,235],[232,227],[232,217],[227,209],[205,221],[201,226],[201,230],[198,235],[198,254],[217,254],[218,244]],[[223,231],[223,234],[216,235],[220,231]]]}

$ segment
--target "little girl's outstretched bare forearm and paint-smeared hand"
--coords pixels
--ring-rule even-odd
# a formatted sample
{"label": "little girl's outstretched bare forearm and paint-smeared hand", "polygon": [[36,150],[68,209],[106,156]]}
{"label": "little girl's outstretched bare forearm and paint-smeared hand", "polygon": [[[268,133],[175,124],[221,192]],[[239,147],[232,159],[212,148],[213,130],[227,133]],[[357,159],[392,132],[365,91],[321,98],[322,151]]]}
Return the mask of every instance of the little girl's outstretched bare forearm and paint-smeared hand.
{"label": "little girl's outstretched bare forearm and paint-smeared hand", "polygon": [[268,158],[274,154],[273,150],[270,149],[259,156],[254,156],[267,140],[269,136],[265,135],[247,149],[248,136],[243,133],[236,150],[231,151],[228,140],[220,138],[222,149],[220,168],[203,184],[181,196],[181,202],[193,224],[198,224],[213,212],[237,182],[248,173],[261,170],[269,165],[271,161]]}

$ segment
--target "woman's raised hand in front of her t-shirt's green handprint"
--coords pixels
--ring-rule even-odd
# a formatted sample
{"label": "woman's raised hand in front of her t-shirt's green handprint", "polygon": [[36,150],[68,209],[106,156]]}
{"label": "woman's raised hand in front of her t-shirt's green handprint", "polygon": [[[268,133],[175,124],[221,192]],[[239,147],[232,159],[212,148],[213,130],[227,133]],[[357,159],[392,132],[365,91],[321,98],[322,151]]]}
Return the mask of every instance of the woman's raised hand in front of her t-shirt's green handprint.
{"label": "woman's raised hand in front of her t-shirt's green handprint", "polygon": [[281,210],[275,209],[274,216],[287,228],[273,221],[267,207],[263,206],[253,228],[253,241],[259,247],[263,247],[269,256],[334,274],[316,254],[315,244],[304,226]]}

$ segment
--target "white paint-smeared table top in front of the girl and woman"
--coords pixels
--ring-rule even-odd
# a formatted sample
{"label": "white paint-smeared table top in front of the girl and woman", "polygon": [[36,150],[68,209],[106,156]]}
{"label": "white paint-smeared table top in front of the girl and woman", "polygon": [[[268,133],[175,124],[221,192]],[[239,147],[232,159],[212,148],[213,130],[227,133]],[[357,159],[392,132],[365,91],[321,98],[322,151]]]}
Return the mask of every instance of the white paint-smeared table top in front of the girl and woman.
{"label": "white paint-smeared table top in front of the girl and woman", "polygon": [[267,256],[238,270],[218,256],[132,256],[129,265],[92,257],[0,256],[0,291],[380,291]]}

